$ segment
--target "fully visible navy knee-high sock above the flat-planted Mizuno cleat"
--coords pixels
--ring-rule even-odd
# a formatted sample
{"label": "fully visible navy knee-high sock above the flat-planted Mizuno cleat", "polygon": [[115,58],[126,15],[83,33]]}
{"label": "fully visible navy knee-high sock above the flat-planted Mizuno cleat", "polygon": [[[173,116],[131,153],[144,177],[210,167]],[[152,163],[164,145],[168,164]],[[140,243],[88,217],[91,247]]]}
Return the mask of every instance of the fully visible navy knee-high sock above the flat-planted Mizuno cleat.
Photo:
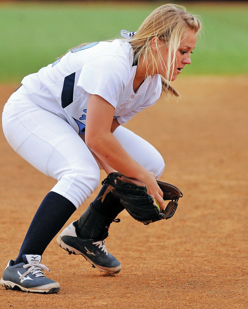
{"label": "fully visible navy knee-high sock above the flat-planted Mizuno cleat", "polygon": [[49,192],[33,217],[14,264],[22,262],[23,254],[42,255],[75,210],[76,207],[67,198]]}

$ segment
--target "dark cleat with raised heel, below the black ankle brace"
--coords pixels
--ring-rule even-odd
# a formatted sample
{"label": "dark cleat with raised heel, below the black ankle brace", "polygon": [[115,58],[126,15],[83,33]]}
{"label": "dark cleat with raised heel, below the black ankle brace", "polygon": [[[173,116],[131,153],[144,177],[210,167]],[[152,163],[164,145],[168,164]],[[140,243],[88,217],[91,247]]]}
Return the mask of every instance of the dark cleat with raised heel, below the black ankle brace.
{"label": "dark cleat with raised heel, below the black ankle brace", "polygon": [[[75,222],[75,221],[74,221]],[[57,237],[57,243],[69,254],[81,254],[92,267],[100,271],[116,274],[121,271],[121,263],[108,253],[104,240],[83,239],[76,233],[74,222],[66,227]]]}

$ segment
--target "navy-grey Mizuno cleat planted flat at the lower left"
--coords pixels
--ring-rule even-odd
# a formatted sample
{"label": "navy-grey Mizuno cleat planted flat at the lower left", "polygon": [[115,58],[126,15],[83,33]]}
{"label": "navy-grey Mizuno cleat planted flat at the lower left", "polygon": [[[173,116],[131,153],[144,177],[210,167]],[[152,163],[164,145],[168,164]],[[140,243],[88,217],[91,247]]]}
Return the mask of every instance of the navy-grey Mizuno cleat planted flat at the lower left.
{"label": "navy-grey Mizuno cleat planted flat at the lower left", "polygon": [[13,265],[10,260],[3,272],[0,283],[6,289],[17,289],[23,292],[33,293],[57,293],[60,284],[44,275],[43,271],[50,271],[41,264],[41,255],[24,254],[23,262]]}

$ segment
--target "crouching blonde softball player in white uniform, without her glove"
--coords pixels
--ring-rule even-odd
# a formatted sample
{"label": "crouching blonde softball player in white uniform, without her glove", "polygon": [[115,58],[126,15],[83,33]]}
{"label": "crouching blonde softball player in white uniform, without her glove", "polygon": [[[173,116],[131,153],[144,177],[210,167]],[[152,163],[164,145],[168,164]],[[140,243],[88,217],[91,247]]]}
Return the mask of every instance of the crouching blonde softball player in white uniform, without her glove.
{"label": "crouching blonde softball player in white uniform, without her glove", "polygon": [[[30,74],[9,98],[2,115],[11,147],[42,173],[58,180],[39,206],[1,285],[56,293],[41,264],[44,250],[73,212],[98,187],[100,168],[118,171],[147,185],[164,206],[157,185],[164,161],[147,141],[124,128],[129,119],[169,93],[195,48],[200,21],[184,7],[155,9],[127,39],[82,44],[53,64]],[[101,271],[117,273],[121,263],[107,252],[108,228],[124,209],[106,186],[84,214],[57,237]]]}

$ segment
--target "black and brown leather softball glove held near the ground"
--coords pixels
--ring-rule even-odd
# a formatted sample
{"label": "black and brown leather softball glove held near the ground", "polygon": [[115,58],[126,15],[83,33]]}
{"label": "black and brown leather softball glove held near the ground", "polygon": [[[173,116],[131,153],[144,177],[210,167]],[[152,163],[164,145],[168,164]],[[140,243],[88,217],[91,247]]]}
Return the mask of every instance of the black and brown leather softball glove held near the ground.
{"label": "black and brown leather softball glove held near the ground", "polygon": [[108,192],[112,192],[116,198],[120,199],[126,211],[137,221],[149,224],[162,219],[170,219],[176,209],[177,201],[183,193],[170,183],[157,181],[158,186],[163,192],[163,200],[170,202],[164,210],[154,205],[153,197],[147,194],[147,187],[144,183],[134,178],[128,178],[120,173],[110,173],[102,181],[106,183],[107,189],[102,196],[102,201]]}

